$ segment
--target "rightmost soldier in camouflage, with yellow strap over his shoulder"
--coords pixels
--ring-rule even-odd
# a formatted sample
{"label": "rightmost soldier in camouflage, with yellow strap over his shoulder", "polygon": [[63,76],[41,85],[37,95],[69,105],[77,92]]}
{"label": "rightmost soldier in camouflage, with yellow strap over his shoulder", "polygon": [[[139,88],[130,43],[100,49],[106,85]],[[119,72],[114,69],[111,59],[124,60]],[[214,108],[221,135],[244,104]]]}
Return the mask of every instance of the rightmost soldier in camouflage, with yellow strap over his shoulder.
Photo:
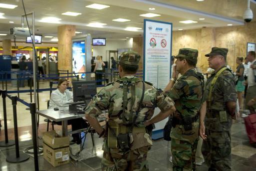
{"label": "rightmost soldier in camouflage, with yellow strap over his shoulder", "polygon": [[213,47],[211,53],[205,55],[209,57],[209,67],[215,70],[206,84],[208,137],[202,147],[209,171],[231,171],[231,125],[237,92],[234,76],[226,68],[227,53],[227,48]]}

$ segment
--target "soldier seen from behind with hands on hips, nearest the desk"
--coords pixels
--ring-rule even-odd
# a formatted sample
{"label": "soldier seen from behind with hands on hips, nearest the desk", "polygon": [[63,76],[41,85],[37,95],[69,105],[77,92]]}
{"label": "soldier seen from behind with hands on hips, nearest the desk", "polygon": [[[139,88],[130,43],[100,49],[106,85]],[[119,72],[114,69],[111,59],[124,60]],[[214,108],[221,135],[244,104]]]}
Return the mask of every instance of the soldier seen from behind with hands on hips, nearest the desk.
{"label": "soldier seen from behind with hands on hips, nearest the desk", "polygon": [[[104,137],[102,171],[147,171],[146,158],[152,140],[145,121],[153,116],[155,107],[160,108],[165,118],[175,111],[171,98],[151,83],[136,78],[139,60],[139,54],[124,52],[118,66],[121,78],[97,93],[85,110],[86,119]],[[106,130],[96,119],[102,110],[108,110]],[[130,144],[123,148],[125,141],[118,139],[127,134]]]}

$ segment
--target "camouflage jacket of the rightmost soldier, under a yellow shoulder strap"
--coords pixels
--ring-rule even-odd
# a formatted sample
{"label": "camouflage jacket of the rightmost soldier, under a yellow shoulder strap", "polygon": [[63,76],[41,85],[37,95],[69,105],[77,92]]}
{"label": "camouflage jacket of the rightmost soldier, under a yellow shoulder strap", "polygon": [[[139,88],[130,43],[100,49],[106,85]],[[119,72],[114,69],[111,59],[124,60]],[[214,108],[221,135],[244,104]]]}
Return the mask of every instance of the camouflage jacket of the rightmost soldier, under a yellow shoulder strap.
{"label": "camouflage jacket of the rightmost soldier, under a yellow shoulder strap", "polygon": [[[225,66],[223,66],[225,67]],[[223,68],[222,67],[222,68]],[[220,68],[220,69],[222,69]],[[232,117],[226,108],[227,102],[237,101],[236,82],[231,70],[223,71],[212,90],[212,97],[209,100],[209,91],[211,82],[218,71],[214,72],[207,80],[206,83],[206,98],[207,112],[205,118],[205,126],[207,129],[213,131],[230,131],[232,125]],[[227,123],[220,123],[219,112],[226,111],[228,116]]]}

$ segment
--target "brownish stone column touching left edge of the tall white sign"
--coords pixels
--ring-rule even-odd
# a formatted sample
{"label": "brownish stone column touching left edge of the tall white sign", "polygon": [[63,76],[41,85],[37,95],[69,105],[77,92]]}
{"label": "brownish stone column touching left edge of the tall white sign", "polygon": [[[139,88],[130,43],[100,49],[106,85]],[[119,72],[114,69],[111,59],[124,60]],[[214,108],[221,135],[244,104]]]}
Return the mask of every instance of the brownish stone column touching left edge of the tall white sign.
{"label": "brownish stone column touching left edge of the tall white sign", "polygon": [[139,70],[143,70],[143,37],[133,37],[132,50],[139,53],[140,63]]}

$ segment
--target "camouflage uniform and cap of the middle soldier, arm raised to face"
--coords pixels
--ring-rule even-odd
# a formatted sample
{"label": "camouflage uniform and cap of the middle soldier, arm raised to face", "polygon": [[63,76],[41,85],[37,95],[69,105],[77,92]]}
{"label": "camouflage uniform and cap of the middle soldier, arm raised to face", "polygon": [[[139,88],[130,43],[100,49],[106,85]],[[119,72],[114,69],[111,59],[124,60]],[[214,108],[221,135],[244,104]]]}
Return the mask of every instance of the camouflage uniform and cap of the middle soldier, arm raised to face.
{"label": "camouflage uniform and cap of the middle soldier, arm raised to face", "polygon": [[[185,58],[197,63],[198,51],[195,49],[180,49],[178,56],[175,58]],[[178,59],[179,60],[179,59]],[[196,77],[200,76],[200,77]],[[200,79],[199,79],[200,78]],[[199,136],[199,109],[203,96],[203,75],[190,69],[184,73],[174,87],[167,92],[167,95],[175,102],[176,112],[174,119],[183,121],[184,117],[195,118],[192,121],[192,130],[185,131],[183,124],[173,125],[171,132],[171,149],[173,157],[174,171],[191,171],[195,170],[195,155]],[[176,126],[175,126],[176,125]]]}

